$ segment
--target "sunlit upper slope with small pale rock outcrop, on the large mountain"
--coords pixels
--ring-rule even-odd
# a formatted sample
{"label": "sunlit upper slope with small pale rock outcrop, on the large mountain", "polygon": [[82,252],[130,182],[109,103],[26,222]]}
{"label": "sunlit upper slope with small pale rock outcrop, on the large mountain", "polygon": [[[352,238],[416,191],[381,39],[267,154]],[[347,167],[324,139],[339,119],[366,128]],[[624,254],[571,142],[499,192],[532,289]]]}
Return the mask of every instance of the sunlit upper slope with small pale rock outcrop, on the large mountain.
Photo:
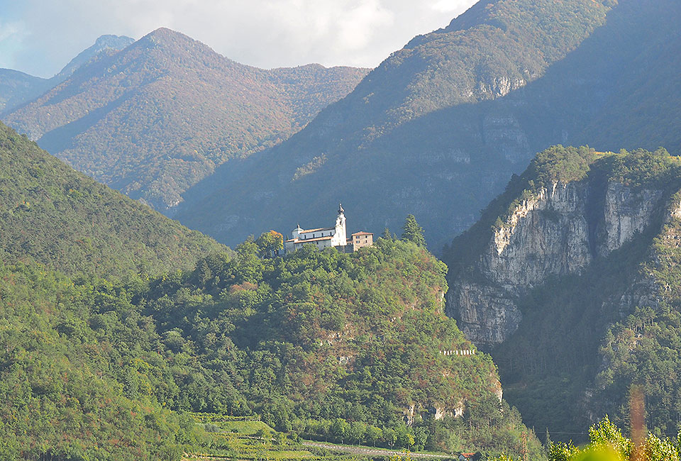
{"label": "sunlit upper slope with small pale rock outcrop, on the large mountain", "polygon": [[577,48],[605,23],[614,5],[613,0],[480,1],[448,27],[414,38],[392,56],[390,64],[411,67],[415,75],[407,86],[409,97],[392,111],[408,120],[505,96]]}

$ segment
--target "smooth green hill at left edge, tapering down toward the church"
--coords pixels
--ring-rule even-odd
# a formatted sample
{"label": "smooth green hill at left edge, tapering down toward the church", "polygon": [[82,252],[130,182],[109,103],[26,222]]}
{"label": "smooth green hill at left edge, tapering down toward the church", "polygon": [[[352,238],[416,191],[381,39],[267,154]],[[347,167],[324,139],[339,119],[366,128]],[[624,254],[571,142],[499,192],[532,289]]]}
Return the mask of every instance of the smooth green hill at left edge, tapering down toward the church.
{"label": "smooth green hill at left edge, tapering down toward the church", "polygon": [[225,250],[103,186],[0,123],[0,257],[123,277],[191,267]]}

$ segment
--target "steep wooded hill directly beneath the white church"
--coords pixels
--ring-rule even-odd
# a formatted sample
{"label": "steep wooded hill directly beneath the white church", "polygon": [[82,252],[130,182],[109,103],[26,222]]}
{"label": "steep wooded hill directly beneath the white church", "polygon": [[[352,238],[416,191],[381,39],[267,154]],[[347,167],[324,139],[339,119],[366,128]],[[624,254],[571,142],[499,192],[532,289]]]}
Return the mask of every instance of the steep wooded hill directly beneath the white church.
{"label": "steep wooded hill directly beneath the white church", "polygon": [[426,250],[383,238],[351,255],[261,253],[247,241],[233,260],[209,257],[150,285],[145,312],[171,348],[205,367],[190,408],[255,412],[338,442],[520,449],[527,430],[499,403],[489,356],[440,353],[475,348],[444,315],[446,267]]}

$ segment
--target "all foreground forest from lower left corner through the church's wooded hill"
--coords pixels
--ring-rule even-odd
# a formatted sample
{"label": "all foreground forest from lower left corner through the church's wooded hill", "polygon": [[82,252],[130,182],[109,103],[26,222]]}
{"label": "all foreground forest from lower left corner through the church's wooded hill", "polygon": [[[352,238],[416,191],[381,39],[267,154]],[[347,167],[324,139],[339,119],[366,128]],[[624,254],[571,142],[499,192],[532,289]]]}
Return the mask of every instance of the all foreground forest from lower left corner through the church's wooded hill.
{"label": "all foreground forest from lower left corner through the church's wooded hill", "polygon": [[379,239],[270,258],[259,242],[116,283],[0,264],[1,453],[179,461],[209,450],[179,416],[204,411],[448,453],[519,455],[527,433],[528,459],[543,458],[489,355],[441,354],[473,346],[443,313],[446,267],[423,248]]}

